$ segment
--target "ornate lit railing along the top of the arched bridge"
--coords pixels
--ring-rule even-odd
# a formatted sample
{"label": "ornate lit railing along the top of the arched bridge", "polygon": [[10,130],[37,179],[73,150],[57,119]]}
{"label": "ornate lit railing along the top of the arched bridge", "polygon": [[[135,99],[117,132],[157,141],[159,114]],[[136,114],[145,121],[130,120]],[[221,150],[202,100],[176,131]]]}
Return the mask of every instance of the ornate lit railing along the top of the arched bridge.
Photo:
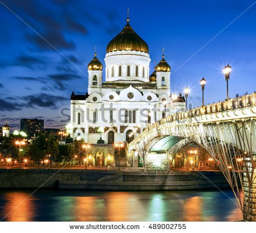
{"label": "ornate lit railing along the top of the arched bridge", "polygon": [[[219,101],[217,103],[212,103],[210,105],[204,105],[188,111],[172,114],[170,116],[167,116],[166,118],[160,119],[159,124],[163,124],[166,122],[173,122],[175,120],[181,120],[181,119],[191,118],[191,117],[205,115],[205,114],[221,113],[223,111],[241,109],[243,107],[249,107],[249,106],[256,106],[255,91],[253,94],[249,94],[249,95],[246,94],[246,95],[236,97],[233,99],[228,99],[222,102]],[[154,127],[154,124],[152,124],[148,128],[148,130],[150,130],[151,127]]]}

